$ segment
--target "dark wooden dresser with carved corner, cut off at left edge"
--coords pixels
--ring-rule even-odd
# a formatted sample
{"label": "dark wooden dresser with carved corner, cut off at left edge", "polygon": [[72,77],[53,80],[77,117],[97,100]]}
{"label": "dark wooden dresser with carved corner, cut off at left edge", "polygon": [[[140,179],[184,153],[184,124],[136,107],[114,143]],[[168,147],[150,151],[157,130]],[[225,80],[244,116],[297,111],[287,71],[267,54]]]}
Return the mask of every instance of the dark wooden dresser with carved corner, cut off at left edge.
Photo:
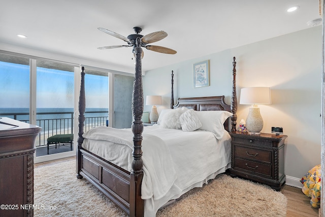
{"label": "dark wooden dresser with carved corner, cut off at left edge", "polygon": [[7,117],[0,121],[0,216],[33,216],[34,142],[41,128]]}

